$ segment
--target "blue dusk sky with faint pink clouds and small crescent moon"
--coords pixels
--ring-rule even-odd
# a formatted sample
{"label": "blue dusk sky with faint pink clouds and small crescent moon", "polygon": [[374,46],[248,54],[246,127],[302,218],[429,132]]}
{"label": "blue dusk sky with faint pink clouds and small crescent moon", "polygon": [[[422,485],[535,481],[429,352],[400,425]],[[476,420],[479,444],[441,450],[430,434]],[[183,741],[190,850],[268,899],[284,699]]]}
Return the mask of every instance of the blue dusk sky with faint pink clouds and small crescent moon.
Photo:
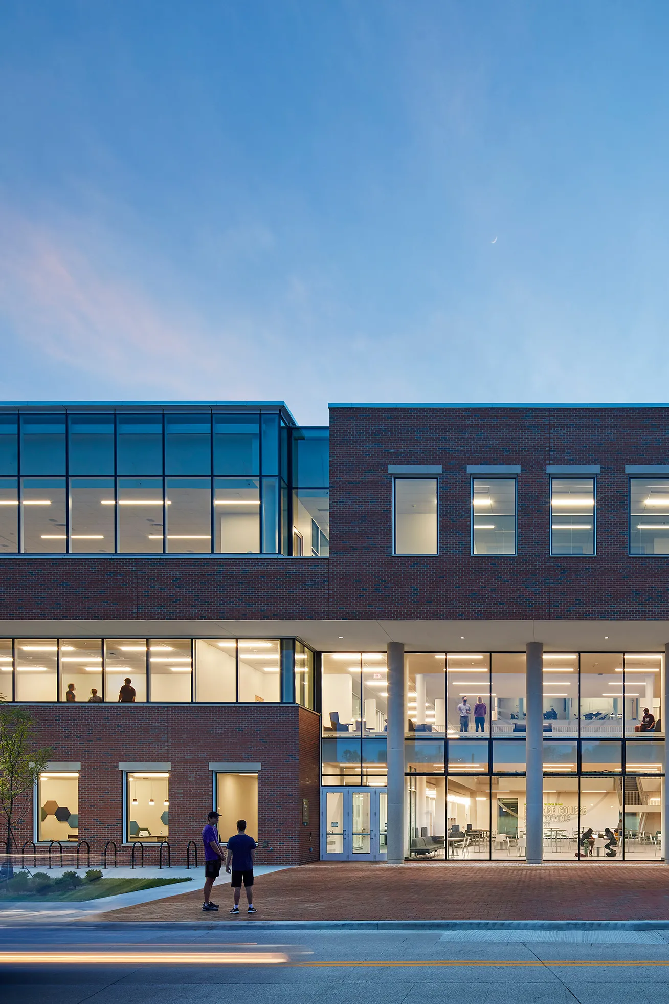
{"label": "blue dusk sky with faint pink clouds and small crescent moon", "polygon": [[5,0],[0,396],[660,402],[669,5]]}

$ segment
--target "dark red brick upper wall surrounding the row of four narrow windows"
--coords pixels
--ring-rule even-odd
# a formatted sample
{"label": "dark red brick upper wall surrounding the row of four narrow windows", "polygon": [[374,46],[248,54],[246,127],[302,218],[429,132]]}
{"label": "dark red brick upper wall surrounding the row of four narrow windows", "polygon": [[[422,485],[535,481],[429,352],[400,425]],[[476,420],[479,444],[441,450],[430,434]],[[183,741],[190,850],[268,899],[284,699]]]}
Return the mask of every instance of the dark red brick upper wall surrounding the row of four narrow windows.
{"label": "dark red brick upper wall surrounding the row of four narrow windows", "polygon": [[[669,463],[669,409],[330,413],[330,617],[653,619],[667,558],[629,557],[626,464]],[[388,464],[441,464],[439,555],[393,557]],[[520,464],[517,557],[470,555],[467,464]],[[547,464],[599,464],[596,557],[551,557]]]}

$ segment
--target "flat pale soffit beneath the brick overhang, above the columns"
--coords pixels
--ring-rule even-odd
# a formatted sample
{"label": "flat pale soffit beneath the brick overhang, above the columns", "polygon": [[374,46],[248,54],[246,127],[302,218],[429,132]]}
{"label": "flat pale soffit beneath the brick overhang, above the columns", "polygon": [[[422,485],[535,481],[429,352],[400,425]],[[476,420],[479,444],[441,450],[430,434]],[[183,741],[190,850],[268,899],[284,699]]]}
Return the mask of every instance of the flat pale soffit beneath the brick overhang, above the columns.
{"label": "flat pale soffit beneath the brick overhang, above the columns", "polygon": [[669,620],[0,620],[11,638],[297,637],[319,652],[660,652]]}

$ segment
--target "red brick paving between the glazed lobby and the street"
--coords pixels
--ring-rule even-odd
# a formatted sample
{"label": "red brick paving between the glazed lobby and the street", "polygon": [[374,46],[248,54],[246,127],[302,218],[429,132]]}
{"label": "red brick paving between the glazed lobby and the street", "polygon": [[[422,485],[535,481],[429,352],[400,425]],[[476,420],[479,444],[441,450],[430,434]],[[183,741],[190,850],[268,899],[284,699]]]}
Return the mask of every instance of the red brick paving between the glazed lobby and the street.
{"label": "red brick paving between the glazed lobby and the street", "polygon": [[[230,887],[218,914],[186,893],[103,915],[105,921],[240,923]],[[628,921],[669,919],[669,869],[661,864],[402,864],[318,862],[256,878],[262,921]],[[230,902],[229,902],[230,901]],[[242,893],[242,909],[246,903]]]}

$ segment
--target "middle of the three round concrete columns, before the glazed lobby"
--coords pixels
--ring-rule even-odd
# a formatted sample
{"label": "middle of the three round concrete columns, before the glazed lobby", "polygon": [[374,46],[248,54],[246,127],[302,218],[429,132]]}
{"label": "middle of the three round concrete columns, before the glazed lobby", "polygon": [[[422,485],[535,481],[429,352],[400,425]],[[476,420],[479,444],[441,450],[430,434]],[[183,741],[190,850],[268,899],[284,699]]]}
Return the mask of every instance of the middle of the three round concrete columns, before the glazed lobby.
{"label": "middle of the three round concrete columns, before the glazed lobby", "polygon": [[539,864],[544,842],[544,646],[527,646],[527,860]]}

